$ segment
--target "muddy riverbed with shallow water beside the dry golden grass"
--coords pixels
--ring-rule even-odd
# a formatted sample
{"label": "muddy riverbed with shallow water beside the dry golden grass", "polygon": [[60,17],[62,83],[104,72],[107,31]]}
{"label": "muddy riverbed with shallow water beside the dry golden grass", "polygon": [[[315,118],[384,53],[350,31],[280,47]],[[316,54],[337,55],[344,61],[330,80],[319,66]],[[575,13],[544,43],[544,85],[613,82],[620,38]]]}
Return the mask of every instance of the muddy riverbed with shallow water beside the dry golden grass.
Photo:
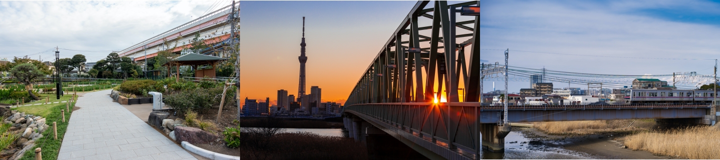
{"label": "muddy riverbed with shallow water beside the dry golden grass", "polygon": [[[648,151],[625,149],[626,133],[582,136],[547,135],[536,128],[513,127],[505,137],[505,154],[488,154],[485,159],[677,159]],[[494,155],[494,156],[490,156]]]}

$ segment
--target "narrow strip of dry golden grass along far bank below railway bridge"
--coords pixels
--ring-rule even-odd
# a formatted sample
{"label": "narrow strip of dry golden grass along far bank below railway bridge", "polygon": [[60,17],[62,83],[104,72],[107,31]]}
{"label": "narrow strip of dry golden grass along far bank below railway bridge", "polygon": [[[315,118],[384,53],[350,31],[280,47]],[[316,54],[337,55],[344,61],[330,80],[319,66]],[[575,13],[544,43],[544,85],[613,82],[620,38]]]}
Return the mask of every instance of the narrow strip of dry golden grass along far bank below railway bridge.
{"label": "narrow strip of dry golden grass along far bank below railway bridge", "polygon": [[592,133],[598,130],[613,130],[619,128],[627,128],[632,124],[632,128],[649,128],[654,125],[654,121],[638,120],[609,120],[609,121],[556,121],[556,122],[536,122],[534,128],[538,128],[545,133]]}

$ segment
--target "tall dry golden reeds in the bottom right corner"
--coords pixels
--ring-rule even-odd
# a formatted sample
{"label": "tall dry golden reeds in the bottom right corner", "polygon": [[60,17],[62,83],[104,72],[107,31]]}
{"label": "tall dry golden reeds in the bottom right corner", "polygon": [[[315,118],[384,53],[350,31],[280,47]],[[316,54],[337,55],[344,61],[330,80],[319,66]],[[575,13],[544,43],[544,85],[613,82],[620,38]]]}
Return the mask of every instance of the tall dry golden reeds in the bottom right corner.
{"label": "tall dry golden reeds in the bottom right corner", "polygon": [[642,132],[628,136],[625,145],[633,150],[682,156],[688,159],[720,159],[720,129],[712,126],[671,131]]}

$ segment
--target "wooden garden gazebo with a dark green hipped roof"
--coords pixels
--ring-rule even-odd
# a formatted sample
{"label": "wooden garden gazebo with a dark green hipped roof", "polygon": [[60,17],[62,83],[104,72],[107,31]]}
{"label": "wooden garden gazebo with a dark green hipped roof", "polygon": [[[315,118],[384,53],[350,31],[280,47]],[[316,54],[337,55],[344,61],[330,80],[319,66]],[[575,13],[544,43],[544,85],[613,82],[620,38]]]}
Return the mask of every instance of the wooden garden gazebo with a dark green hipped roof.
{"label": "wooden garden gazebo with a dark green hipped roof", "polygon": [[[171,77],[170,67],[175,65],[176,68],[176,81],[180,79],[180,66],[183,65],[189,65],[192,66],[195,70],[195,77],[215,77],[215,65],[217,65],[218,62],[221,62],[223,60],[228,60],[227,58],[223,57],[215,57],[212,55],[200,55],[196,53],[188,53],[186,55],[181,55],[180,57],[176,57],[175,59],[171,60],[170,62],[167,62],[163,66],[168,67],[168,77]],[[210,69],[204,69],[204,70],[197,70],[197,67],[199,65],[210,65],[212,66]]]}

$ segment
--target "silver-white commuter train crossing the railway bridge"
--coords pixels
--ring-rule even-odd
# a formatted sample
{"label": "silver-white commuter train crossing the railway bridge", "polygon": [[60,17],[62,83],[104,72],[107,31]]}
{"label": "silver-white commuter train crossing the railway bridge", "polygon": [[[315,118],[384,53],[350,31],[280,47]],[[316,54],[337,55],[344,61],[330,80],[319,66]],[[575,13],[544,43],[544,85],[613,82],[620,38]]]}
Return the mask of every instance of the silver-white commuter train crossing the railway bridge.
{"label": "silver-white commuter train crossing the railway bridge", "polygon": [[712,103],[713,90],[630,89],[626,103]]}

